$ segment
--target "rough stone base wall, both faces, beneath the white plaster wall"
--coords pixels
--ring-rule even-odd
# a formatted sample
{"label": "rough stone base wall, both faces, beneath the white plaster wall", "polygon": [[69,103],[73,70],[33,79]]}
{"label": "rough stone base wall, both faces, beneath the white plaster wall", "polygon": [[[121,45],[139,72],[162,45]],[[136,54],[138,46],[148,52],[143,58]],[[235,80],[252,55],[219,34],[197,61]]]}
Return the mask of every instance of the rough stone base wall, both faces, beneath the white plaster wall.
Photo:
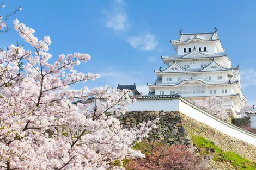
{"label": "rough stone base wall, both faces, beneath the white plaster wall", "polygon": [[[225,152],[234,152],[243,158],[256,162],[256,146],[225,135],[202,122],[181,114],[179,111],[131,111],[121,116],[120,122],[126,128],[133,128],[141,122],[153,121],[156,118],[159,118],[158,127],[149,132],[149,141],[160,140],[170,144],[186,144],[194,150],[192,136],[200,136],[214,142]],[[246,122],[246,120],[244,121]],[[196,153],[197,150],[192,152]],[[228,161],[211,161],[209,169],[233,170],[235,168]]]}

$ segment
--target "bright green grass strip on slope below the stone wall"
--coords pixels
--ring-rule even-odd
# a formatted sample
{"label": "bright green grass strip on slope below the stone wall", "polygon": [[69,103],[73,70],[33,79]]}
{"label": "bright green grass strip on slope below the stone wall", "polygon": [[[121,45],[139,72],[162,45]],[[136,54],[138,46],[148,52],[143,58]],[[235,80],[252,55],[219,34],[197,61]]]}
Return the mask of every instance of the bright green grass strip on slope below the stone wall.
{"label": "bright green grass strip on slope below the stone wall", "polygon": [[203,137],[192,136],[194,145],[199,149],[203,150],[202,154],[214,154],[215,161],[230,161],[231,164],[239,170],[256,169],[256,163],[243,158],[239,154],[234,152],[224,152],[222,149],[215,146],[214,142],[206,140]]}

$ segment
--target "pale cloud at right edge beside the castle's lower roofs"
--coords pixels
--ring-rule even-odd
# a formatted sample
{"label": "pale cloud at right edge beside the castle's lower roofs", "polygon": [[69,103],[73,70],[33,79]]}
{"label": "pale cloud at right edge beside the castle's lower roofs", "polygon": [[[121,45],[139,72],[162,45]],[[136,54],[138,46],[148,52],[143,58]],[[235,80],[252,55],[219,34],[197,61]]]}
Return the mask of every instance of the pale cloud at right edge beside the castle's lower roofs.
{"label": "pale cloud at right edge beside the castle's lower roofs", "polygon": [[241,71],[241,84],[243,88],[256,86],[256,70],[254,68]]}

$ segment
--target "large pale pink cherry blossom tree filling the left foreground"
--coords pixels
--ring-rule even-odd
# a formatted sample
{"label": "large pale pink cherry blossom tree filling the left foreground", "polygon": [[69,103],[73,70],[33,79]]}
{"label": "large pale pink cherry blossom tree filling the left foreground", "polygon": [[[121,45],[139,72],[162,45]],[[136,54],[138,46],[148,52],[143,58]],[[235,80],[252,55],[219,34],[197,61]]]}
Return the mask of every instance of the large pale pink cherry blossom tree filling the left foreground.
{"label": "large pale pink cherry blossom tree filling the left foreground", "polygon": [[[10,45],[0,52],[0,169],[123,169],[111,162],[143,158],[131,147],[154,123],[122,127],[118,116],[136,102],[130,91],[108,86],[70,90],[78,82],[99,78],[75,70],[90,55],[62,54],[51,64],[50,37],[39,40],[34,29],[17,19],[13,24],[32,50]],[[95,97],[94,111],[89,104],[71,103],[90,96]]]}

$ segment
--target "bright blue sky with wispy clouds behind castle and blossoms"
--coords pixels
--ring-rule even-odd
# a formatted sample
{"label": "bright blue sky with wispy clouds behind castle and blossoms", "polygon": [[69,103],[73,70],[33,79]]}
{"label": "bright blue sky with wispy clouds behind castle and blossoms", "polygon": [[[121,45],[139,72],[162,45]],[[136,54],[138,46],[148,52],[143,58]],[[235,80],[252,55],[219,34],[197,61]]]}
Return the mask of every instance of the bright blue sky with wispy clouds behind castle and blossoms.
{"label": "bright blue sky with wispy clouds behind castle and blossoms", "polygon": [[[175,55],[170,40],[184,33],[212,32],[218,28],[225,53],[233,66],[240,65],[242,89],[248,104],[256,104],[256,1],[3,1],[14,18],[52,40],[52,61],[74,52],[92,56],[78,71],[101,74],[97,87],[136,83],[145,94],[154,83],[154,70],[166,67],[161,56]],[[0,35],[0,47],[22,42],[15,30]]]}

